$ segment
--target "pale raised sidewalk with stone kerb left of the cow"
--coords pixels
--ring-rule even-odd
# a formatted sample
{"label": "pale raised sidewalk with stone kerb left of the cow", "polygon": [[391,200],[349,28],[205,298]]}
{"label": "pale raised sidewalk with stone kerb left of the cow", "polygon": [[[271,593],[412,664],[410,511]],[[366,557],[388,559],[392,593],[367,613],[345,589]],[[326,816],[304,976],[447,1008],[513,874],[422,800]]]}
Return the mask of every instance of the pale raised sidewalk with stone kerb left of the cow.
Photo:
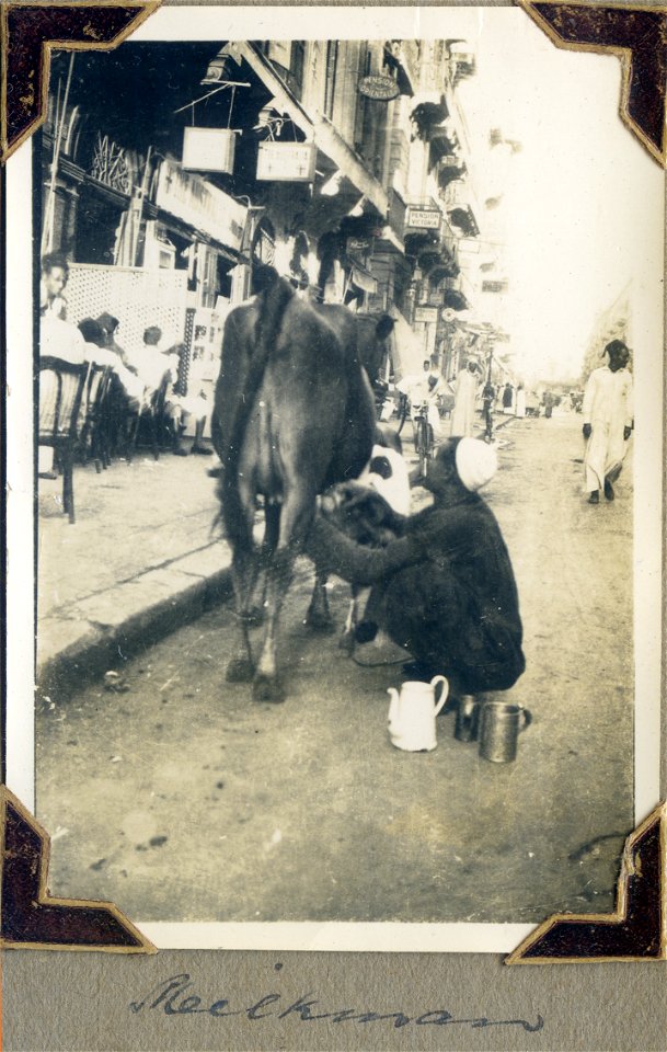
{"label": "pale raised sidewalk with stone kerb left of the cow", "polygon": [[[505,426],[514,418],[497,418]],[[445,427],[447,422],[445,421]],[[483,431],[478,432],[481,437]],[[414,465],[412,435],[402,435]],[[39,481],[37,683],[64,696],[137,654],[231,591],[231,553],[215,525],[217,457],[138,456],[74,468],[77,522],[61,480]]]}

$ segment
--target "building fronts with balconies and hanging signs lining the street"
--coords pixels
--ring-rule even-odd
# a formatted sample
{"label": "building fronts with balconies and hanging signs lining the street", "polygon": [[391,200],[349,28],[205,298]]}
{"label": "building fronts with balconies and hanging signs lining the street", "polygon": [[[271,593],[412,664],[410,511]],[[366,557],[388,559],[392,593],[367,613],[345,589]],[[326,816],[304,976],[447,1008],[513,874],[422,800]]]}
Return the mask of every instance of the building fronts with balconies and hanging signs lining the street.
{"label": "building fronts with balconies and hanging signs lining the street", "polygon": [[388,375],[425,356],[455,373],[480,338],[467,248],[483,209],[458,93],[474,70],[445,39],[56,56],[42,249],[72,263],[72,320],[100,306],[126,339],[164,324],[212,354],[273,263],[302,295],[400,315],[412,339]]}

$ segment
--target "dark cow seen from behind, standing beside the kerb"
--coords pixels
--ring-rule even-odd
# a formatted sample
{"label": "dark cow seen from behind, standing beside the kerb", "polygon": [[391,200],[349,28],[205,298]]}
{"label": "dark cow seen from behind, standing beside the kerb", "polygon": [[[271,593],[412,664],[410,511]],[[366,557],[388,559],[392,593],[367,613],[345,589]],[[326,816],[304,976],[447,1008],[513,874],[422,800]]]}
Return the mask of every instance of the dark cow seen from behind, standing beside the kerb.
{"label": "dark cow seen from behind, standing beside the kerb", "polygon": [[[356,478],[368,462],[375,404],[358,356],[357,329],[341,320],[345,316],[340,311],[346,309],[315,308],[273,267],[262,267],[255,277],[258,295],[226,321],[212,420],[240,629],[227,678],[252,679],[256,700],[281,701],[276,630],[294,560],[318,493]],[[345,339],[347,331],[353,338]],[[257,498],[265,517],[261,552],[253,541]],[[255,664],[249,628],[260,565],[266,616]]]}

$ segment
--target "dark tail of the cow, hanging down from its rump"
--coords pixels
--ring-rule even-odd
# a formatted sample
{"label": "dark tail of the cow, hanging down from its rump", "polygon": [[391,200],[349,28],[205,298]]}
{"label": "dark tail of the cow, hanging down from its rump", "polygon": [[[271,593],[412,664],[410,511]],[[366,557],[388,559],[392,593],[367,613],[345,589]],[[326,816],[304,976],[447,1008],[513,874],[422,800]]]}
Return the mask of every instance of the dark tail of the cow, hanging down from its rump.
{"label": "dark tail of the cow, hanging down from its rump", "polygon": [[239,536],[239,530],[243,529],[243,508],[239,492],[239,460],[243,437],[283,327],[285,310],[295,295],[294,287],[280,278],[273,266],[258,267],[254,271],[253,278],[260,295],[254,346],[245,380],[237,400],[235,414],[227,443],[225,471],[218,489],[222,504],[222,521],[227,536],[231,540]]}

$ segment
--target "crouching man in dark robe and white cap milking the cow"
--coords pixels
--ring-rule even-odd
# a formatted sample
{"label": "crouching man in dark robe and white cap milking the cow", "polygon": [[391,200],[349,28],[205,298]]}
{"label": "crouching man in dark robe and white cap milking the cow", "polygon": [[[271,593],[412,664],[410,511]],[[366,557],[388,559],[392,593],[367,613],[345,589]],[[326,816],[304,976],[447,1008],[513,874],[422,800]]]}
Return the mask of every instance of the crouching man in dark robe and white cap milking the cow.
{"label": "crouching man in dark robe and white cap milking the cow", "polygon": [[[380,627],[414,659],[405,671],[425,679],[441,673],[455,695],[506,690],[526,666],[509,554],[476,492],[496,466],[485,443],[447,439],[425,483],[434,503],[405,521],[403,537],[384,548],[356,544],[343,506],[337,525],[318,514],[306,545],[323,572],[373,585]],[[354,503],[355,483],[346,485]]]}

